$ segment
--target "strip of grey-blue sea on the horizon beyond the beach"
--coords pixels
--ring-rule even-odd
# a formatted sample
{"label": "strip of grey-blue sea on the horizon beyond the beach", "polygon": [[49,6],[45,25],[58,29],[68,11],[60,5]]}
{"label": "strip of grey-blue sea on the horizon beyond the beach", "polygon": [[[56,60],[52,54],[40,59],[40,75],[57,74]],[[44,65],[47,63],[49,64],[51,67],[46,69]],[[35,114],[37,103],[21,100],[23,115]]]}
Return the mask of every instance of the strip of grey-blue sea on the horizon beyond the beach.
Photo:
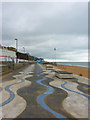
{"label": "strip of grey-blue sea on the horizon beyond the beach", "polygon": [[90,67],[90,62],[57,62],[57,65],[72,65],[72,66]]}

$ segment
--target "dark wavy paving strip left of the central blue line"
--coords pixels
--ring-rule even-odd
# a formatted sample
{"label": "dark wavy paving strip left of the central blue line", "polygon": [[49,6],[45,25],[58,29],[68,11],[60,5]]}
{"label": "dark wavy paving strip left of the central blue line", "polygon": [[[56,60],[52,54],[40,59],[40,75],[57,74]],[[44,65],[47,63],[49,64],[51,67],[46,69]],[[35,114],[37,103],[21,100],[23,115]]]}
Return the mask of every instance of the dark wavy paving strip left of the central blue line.
{"label": "dark wavy paving strip left of the central blue line", "polygon": [[38,74],[37,72],[42,72],[42,69],[38,65],[35,65],[34,76],[27,79],[32,84],[18,90],[18,94],[27,101],[25,111],[18,118],[54,118],[51,113],[44,110],[36,101],[38,95],[47,91],[46,87],[36,83],[40,79],[35,76]]}

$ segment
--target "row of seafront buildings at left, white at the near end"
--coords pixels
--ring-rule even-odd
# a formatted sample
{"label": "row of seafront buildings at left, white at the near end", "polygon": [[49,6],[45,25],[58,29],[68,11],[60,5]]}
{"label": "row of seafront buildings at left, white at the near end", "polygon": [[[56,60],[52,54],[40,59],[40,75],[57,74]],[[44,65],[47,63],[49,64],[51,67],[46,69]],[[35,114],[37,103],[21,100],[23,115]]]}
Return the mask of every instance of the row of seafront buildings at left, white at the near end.
{"label": "row of seafront buildings at left, white at the near end", "polygon": [[20,53],[13,47],[5,47],[0,45],[0,63],[7,62],[32,62],[32,61],[42,61],[42,58],[37,58],[31,56],[28,53]]}

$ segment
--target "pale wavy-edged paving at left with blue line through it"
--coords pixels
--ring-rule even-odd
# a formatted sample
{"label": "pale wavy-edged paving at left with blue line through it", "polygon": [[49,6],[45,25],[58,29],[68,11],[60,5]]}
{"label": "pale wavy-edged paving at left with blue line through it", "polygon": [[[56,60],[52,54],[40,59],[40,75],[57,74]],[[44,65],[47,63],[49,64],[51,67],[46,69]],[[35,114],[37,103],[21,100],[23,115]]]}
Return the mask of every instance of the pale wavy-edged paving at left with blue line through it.
{"label": "pale wavy-edged paving at left with blue line through it", "polygon": [[[0,106],[2,107],[2,117],[3,118],[15,118],[21,114],[26,108],[26,101],[17,94],[17,90],[28,86],[31,84],[30,81],[25,80],[27,77],[32,75],[27,75],[21,73],[20,75],[13,76],[16,79],[13,81],[8,81],[3,83],[3,101]],[[0,108],[1,108],[0,107]],[[12,111],[12,114],[11,114]]]}

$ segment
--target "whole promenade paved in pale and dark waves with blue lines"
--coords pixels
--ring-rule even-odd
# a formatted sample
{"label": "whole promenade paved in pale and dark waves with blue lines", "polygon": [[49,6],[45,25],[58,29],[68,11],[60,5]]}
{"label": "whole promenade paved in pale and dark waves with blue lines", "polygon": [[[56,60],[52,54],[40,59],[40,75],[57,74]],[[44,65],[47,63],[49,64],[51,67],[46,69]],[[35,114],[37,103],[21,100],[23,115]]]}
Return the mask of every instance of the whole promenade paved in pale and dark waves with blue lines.
{"label": "whole promenade paved in pale and dark waves with blue lines", "polygon": [[[31,64],[0,83],[0,118],[88,119],[88,78],[65,72],[56,66]],[[12,113],[11,113],[12,111]]]}

